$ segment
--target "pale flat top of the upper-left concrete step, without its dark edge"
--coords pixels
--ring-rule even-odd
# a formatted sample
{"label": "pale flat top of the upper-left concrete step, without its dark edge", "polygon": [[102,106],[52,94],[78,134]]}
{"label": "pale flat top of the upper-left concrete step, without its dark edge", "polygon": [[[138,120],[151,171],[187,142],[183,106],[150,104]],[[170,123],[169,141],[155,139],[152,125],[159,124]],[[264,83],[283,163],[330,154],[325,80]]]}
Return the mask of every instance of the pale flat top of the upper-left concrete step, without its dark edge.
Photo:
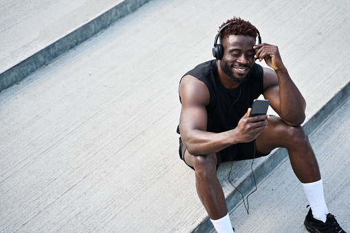
{"label": "pale flat top of the upper-left concrete step, without its dark edge", "polygon": [[122,0],[1,1],[0,73],[120,2]]}

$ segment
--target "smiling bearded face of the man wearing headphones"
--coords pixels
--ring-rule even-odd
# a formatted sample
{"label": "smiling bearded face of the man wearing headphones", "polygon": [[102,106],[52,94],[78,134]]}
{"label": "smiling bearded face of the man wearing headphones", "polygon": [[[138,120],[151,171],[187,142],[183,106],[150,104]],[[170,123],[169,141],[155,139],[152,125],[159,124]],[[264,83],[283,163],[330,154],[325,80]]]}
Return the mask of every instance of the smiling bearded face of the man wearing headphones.
{"label": "smiling bearded face of the man wearing headphones", "polygon": [[248,80],[255,63],[255,38],[231,35],[223,41],[223,58],[220,67],[233,82]]}

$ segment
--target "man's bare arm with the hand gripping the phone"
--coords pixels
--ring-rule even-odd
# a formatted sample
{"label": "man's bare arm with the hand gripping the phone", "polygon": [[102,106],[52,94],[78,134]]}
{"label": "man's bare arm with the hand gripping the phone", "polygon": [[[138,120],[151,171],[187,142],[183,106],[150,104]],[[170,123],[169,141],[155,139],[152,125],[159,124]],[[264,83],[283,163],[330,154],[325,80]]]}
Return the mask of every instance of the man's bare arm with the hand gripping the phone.
{"label": "man's bare arm with the hand gripping the phone", "polygon": [[184,76],[179,95],[182,100],[179,129],[182,142],[191,155],[210,155],[232,144],[251,142],[266,129],[267,115],[248,118],[249,110],[236,129],[222,133],[207,132],[206,105],[210,94],[204,82],[193,76]]}

